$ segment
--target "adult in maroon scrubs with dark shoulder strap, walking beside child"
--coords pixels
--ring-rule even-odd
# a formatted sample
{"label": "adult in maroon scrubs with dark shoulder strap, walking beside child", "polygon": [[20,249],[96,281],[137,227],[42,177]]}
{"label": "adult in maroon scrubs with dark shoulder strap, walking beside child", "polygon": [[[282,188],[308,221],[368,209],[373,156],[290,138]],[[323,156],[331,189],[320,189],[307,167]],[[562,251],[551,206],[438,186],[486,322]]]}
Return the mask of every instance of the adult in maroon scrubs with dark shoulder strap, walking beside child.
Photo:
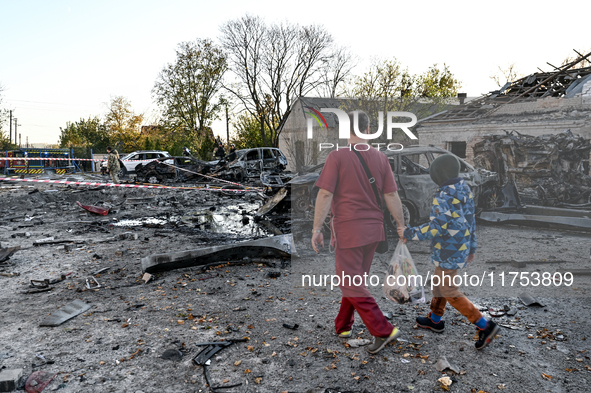
{"label": "adult in maroon scrubs with dark shoulder strap, walking beside child", "polygon": [[[349,113],[349,146],[333,150],[326,159],[322,174],[316,181],[320,188],[316,199],[312,247],[318,253],[318,246],[324,247],[322,224],[328,211],[332,212],[331,244],[335,248],[336,274],[341,278],[339,287],[343,292],[341,309],[335,318],[339,337],[350,337],[356,310],[374,343],[367,348],[370,353],[381,351],[400,334],[384,317],[365,282],[359,285],[354,276],[363,277],[369,273],[378,243],[384,240],[384,215],[378,206],[369,179],[361,161],[352,149],[359,151],[371,175],[375,179],[379,195],[386,203],[399,228],[404,228],[402,204],[398,187],[385,154],[376,150],[353,132],[354,112]],[[359,130],[369,133],[369,118],[358,112]],[[382,202],[382,203],[383,203]],[[343,280],[345,276],[345,280]],[[351,277],[351,280],[346,277]],[[367,276],[366,276],[367,277]]]}

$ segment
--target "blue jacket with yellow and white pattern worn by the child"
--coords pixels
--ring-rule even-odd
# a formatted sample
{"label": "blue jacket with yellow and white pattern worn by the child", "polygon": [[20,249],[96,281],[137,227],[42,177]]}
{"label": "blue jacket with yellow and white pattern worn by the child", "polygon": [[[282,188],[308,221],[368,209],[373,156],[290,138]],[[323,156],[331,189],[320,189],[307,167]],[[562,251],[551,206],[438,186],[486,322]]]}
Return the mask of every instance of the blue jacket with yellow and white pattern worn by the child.
{"label": "blue jacket with yellow and white pattern worn by the child", "polygon": [[460,269],[466,266],[468,254],[476,253],[475,230],[472,192],[464,180],[456,178],[437,190],[431,220],[418,227],[407,227],[404,237],[410,240],[431,239],[431,261],[435,266]]}

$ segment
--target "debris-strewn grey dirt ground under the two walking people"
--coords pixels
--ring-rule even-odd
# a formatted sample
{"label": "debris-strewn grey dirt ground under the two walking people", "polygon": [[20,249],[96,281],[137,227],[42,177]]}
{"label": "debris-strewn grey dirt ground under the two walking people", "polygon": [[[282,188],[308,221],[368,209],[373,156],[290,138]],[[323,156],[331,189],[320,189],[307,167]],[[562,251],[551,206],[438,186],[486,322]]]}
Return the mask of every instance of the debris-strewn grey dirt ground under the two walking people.
{"label": "debris-strewn grey dirt ground under the two walking people", "polygon": [[[149,199],[137,204],[132,198]],[[0,243],[3,248],[21,246],[0,264],[0,273],[18,273],[0,275],[0,367],[22,368],[25,375],[58,373],[45,391],[209,392],[203,368],[192,362],[200,351],[196,344],[235,338],[247,341],[216,354],[208,371],[215,386],[241,385],[217,391],[442,392],[438,379],[445,373],[435,367],[441,356],[459,369],[446,371],[454,381],[448,388],[452,392],[589,391],[589,278],[575,275],[570,287],[556,281],[537,289],[498,284],[503,272],[509,280],[510,272],[591,267],[588,234],[479,224],[477,259],[467,272],[479,277],[492,273],[497,282],[465,293],[482,309],[510,306],[517,311],[495,318],[504,325],[498,337],[477,351],[475,328],[449,306],[445,333],[418,329],[414,320],[426,314],[428,304],[394,304],[373,287],[378,304],[393,314],[391,321],[402,335],[370,355],[334,334],[338,289],[301,287],[302,274],[334,272],[334,256],[328,250],[318,256],[311,251],[305,226],[297,229],[300,257],[291,261],[243,260],[241,265],[179,269],[157,273],[149,283],[141,280],[142,257],[268,236],[254,220],[244,219],[261,204],[252,194],[0,182],[0,200]],[[111,212],[91,215],[76,201],[108,206]],[[74,242],[33,245],[47,237]],[[409,249],[421,274],[433,270],[427,243],[409,243]],[[502,263],[510,259],[539,263],[522,268]],[[388,263],[389,254],[377,256],[372,274],[383,276]],[[103,268],[96,275],[101,288],[87,289],[86,279]],[[51,291],[22,293],[31,289],[31,279],[69,272]],[[270,278],[270,272],[280,275]],[[536,296],[545,307],[526,307],[518,298],[521,292]],[[430,296],[427,286],[427,300]],[[58,327],[39,326],[75,299],[92,307]],[[299,326],[292,330],[283,324]],[[359,319],[353,332],[356,338],[371,339]],[[163,358],[171,349],[178,352],[167,355],[178,358]]]}

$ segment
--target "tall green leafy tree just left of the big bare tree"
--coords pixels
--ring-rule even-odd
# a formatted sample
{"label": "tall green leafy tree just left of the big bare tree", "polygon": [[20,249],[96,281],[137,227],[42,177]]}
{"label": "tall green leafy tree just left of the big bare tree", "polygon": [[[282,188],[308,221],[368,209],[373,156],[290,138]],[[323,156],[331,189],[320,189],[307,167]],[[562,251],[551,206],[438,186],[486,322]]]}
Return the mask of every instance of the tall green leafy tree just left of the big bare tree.
{"label": "tall green leafy tree just left of the big bare tree", "polygon": [[176,61],[164,67],[152,89],[169,144],[202,157],[213,146],[211,123],[222,109],[218,92],[227,68],[226,56],[211,40],[178,45]]}

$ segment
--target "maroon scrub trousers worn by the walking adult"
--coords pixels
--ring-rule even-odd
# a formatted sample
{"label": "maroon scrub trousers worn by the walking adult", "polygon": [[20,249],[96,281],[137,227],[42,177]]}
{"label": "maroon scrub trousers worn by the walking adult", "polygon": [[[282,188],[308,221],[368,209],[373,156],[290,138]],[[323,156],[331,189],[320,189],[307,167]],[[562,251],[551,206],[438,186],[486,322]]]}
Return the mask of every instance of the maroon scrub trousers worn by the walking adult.
{"label": "maroon scrub trousers worn by the walking adult", "polygon": [[[359,284],[359,279],[354,281],[354,276],[363,279],[363,274],[369,274],[373,256],[378,243],[371,243],[361,247],[335,249],[336,274],[341,279],[339,288],[343,292],[341,309],[335,318],[337,333],[351,330],[353,327],[354,312],[357,311],[367,330],[375,337],[388,337],[394,327],[378,307],[375,299],[367,288],[365,282]],[[343,280],[343,275],[345,279]],[[351,282],[347,276],[351,277]],[[374,280],[375,282],[375,280]],[[367,278],[369,284],[369,277]]]}

